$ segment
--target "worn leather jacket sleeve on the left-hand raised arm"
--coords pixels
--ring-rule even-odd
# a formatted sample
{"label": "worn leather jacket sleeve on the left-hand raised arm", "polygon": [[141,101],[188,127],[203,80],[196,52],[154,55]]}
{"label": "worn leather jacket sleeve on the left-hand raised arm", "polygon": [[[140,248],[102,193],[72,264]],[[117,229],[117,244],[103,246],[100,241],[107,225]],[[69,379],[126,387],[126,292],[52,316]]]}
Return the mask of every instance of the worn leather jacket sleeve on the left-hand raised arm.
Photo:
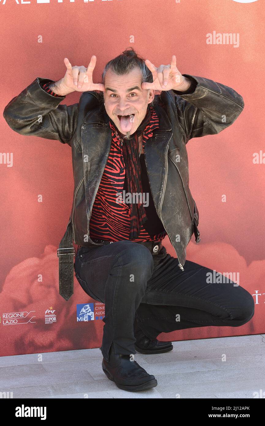
{"label": "worn leather jacket sleeve on the left-hand raised arm", "polygon": [[71,146],[78,118],[78,103],[60,105],[65,96],[50,95],[42,85],[55,81],[37,77],[3,111],[9,127],[20,135],[56,139]]}

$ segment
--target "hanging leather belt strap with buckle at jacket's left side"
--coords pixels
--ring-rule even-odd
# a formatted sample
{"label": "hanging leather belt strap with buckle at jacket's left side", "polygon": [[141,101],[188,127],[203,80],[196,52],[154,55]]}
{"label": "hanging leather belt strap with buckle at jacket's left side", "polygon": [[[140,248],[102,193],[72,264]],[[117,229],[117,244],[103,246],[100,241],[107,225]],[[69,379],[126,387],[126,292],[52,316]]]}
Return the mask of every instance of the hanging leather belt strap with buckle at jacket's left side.
{"label": "hanging leather belt strap with buckle at jacket's left side", "polygon": [[75,248],[73,247],[71,216],[59,244],[57,256],[59,258],[59,293],[65,300],[68,300],[74,293]]}

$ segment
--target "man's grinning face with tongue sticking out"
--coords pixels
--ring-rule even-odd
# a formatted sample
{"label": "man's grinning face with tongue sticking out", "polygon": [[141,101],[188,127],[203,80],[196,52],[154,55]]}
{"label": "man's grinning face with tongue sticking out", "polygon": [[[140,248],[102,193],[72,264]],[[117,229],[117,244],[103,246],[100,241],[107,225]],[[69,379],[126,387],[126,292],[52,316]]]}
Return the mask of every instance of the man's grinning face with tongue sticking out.
{"label": "man's grinning face with tongue sticking out", "polygon": [[129,139],[143,121],[147,106],[155,96],[154,90],[142,89],[141,82],[142,73],[138,67],[124,75],[116,75],[108,69],[105,75],[107,114],[125,138]]}

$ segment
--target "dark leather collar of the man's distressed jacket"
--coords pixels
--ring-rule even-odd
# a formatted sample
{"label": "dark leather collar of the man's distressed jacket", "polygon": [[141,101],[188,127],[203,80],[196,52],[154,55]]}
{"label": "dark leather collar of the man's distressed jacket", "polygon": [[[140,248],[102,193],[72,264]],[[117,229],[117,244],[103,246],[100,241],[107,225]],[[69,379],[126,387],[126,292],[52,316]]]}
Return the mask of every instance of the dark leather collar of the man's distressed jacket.
{"label": "dark leather collar of the man's distressed jacket", "polygon": [[[166,91],[161,93],[161,95],[156,96],[159,96],[159,101],[161,100],[163,103],[170,101],[170,95]],[[95,91],[92,90],[83,92],[81,98],[82,102],[84,101],[86,105],[86,109],[89,109],[86,116],[84,117],[84,123],[108,126],[109,116],[107,115],[104,105],[99,104],[98,98],[95,95]],[[159,129],[156,129],[156,132],[170,132],[172,130],[172,125],[159,101],[154,105],[154,109],[156,110],[159,118]]]}

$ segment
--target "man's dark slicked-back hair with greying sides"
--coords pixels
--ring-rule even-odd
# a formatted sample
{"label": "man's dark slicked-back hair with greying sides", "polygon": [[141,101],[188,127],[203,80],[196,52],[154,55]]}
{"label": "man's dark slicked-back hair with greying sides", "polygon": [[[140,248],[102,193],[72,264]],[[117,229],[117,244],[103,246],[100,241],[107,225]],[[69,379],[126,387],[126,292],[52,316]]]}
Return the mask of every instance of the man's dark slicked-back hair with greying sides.
{"label": "man's dark slicked-back hair with greying sides", "polygon": [[[153,75],[149,68],[147,68],[144,58],[138,55],[132,47],[125,49],[121,55],[116,56],[116,58],[110,60],[102,72],[101,83],[105,83],[105,75],[108,69],[114,72],[117,75],[129,74],[132,69],[138,67],[142,73],[142,83],[153,83]],[[98,93],[100,101],[104,102],[103,92]],[[156,98],[149,104],[153,106],[157,102]]]}

